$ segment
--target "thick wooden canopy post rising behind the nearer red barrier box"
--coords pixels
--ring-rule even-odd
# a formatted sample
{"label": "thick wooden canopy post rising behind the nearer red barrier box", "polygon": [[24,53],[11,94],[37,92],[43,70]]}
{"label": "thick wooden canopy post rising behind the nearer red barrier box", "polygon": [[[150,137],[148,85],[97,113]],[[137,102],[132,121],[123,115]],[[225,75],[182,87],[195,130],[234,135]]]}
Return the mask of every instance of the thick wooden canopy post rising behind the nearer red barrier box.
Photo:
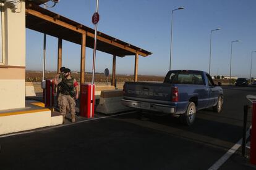
{"label": "thick wooden canopy post rising behind the nearer red barrier box", "polygon": [[85,83],[85,47],[86,47],[86,34],[82,34],[80,84]]}

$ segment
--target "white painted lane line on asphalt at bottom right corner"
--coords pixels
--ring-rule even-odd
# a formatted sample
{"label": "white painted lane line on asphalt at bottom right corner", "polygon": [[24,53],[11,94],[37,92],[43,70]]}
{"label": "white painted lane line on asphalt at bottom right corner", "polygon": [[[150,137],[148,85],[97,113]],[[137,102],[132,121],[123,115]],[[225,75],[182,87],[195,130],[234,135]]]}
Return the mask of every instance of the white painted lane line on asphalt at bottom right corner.
{"label": "white painted lane line on asphalt at bottom right corner", "polygon": [[[250,126],[250,128],[251,127],[252,126]],[[250,136],[250,128],[246,132],[246,140]],[[213,166],[211,166],[208,170],[219,169],[230,158],[230,156],[233,155],[233,153],[235,153],[239,147],[241,147],[241,145],[242,139],[240,139],[231,149],[229,149],[228,152],[226,152],[225,155],[223,155],[218,161],[216,161],[216,163],[213,164]]]}

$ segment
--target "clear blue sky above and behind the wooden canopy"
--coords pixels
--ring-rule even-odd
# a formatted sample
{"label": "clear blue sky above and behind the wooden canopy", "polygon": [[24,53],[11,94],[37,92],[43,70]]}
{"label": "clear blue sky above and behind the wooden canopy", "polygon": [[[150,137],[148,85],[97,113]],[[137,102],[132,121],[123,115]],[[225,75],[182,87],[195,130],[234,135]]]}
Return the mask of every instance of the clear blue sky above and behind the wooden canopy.
{"label": "clear blue sky above and behind the wooden canopy", "polygon": [[[50,3],[50,2],[49,2]],[[251,52],[256,51],[256,1],[254,0],[100,0],[98,31],[152,52],[139,57],[140,75],[164,76],[169,70],[171,11],[173,20],[173,70],[208,72],[211,42],[211,75],[229,75],[231,41],[232,75],[249,78]],[[96,0],[61,0],[52,10],[94,28]],[[43,34],[26,31],[27,70],[42,70]],[[58,39],[47,36],[46,70],[57,70]],[[86,51],[86,71],[92,71],[93,49]],[[80,70],[80,46],[64,41],[62,65]],[[96,52],[96,72],[112,71],[112,55]],[[134,56],[117,57],[117,74],[134,74]],[[252,60],[256,77],[256,53]]]}

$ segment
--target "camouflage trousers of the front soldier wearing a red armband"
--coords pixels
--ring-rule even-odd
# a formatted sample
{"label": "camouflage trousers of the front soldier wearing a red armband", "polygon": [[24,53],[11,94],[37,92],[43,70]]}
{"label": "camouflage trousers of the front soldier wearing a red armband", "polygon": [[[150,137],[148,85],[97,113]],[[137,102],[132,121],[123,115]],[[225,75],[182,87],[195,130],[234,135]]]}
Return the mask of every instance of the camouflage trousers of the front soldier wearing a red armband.
{"label": "camouflage trousers of the front soldier wearing a red armband", "polygon": [[59,94],[58,97],[59,112],[63,118],[66,116],[66,112],[70,111],[72,119],[75,119],[75,99],[70,95]]}

